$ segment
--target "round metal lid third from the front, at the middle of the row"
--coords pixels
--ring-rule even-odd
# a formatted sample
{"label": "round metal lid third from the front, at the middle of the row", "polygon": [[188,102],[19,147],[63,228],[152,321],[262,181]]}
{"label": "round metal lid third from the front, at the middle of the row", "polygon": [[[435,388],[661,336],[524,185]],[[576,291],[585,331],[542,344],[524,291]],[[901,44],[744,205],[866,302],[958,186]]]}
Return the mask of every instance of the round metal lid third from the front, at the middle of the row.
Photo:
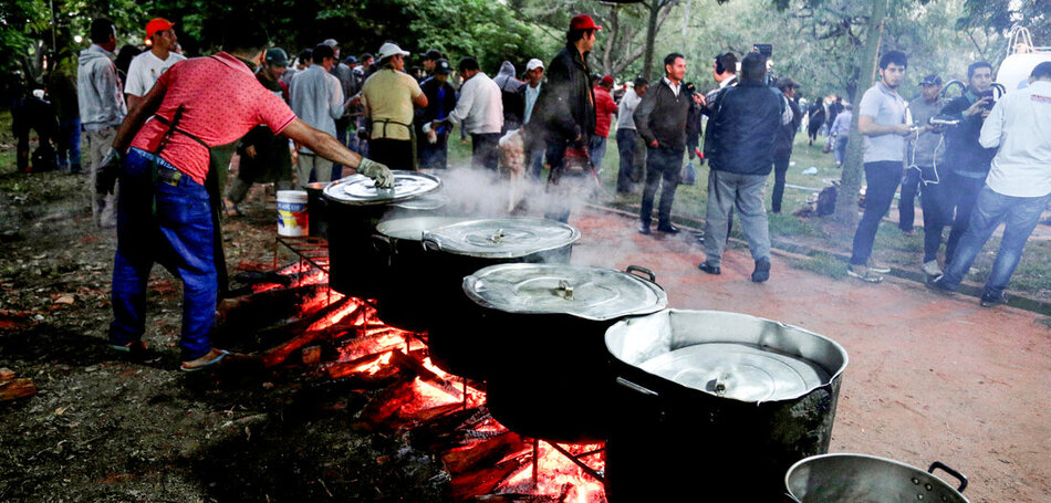
{"label": "round metal lid third from the front, at the middle of the row", "polygon": [[468,220],[424,234],[425,245],[485,259],[516,259],[556,250],[580,239],[576,228],[542,218]]}

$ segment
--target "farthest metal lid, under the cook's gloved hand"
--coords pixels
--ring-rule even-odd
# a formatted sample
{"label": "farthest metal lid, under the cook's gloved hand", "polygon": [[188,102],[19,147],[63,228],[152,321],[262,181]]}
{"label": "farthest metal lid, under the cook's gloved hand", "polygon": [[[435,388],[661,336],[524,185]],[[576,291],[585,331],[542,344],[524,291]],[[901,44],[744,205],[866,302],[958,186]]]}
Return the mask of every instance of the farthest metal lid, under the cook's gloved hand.
{"label": "farthest metal lid, under the cook's gloved hand", "polygon": [[413,199],[441,187],[441,180],[416,171],[393,171],[394,188],[381,189],[372,178],[351,175],[325,187],[325,198],[352,206],[389,205]]}

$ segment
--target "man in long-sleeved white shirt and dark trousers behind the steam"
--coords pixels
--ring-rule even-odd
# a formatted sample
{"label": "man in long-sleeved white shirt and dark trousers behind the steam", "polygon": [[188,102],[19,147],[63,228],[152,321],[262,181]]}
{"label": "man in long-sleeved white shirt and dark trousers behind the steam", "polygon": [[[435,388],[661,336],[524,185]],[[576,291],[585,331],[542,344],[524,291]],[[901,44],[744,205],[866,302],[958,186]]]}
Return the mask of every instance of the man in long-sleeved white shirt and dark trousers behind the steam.
{"label": "man in long-sleeved white shirt and dark trousers behind the steam", "polygon": [[496,171],[500,161],[497,147],[503,127],[500,87],[479,69],[474,57],[460,60],[458,70],[464,76],[464,85],[456,108],[445,120],[435,120],[431,127],[439,127],[443,123],[464,123],[464,129],[471,135],[471,166]]}

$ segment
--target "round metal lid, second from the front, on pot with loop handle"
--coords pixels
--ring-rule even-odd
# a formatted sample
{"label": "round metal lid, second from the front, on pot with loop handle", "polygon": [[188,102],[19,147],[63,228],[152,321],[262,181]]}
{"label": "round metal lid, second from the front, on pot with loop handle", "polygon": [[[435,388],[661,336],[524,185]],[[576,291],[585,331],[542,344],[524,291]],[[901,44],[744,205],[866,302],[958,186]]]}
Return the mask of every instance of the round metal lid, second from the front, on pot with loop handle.
{"label": "round metal lid, second from the front, on pot with loop handle", "polygon": [[465,277],[464,292],[479,305],[507,313],[570,314],[593,321],[655,313],[668,305],[664,289],[652,281],[587,265],[490,265]]}

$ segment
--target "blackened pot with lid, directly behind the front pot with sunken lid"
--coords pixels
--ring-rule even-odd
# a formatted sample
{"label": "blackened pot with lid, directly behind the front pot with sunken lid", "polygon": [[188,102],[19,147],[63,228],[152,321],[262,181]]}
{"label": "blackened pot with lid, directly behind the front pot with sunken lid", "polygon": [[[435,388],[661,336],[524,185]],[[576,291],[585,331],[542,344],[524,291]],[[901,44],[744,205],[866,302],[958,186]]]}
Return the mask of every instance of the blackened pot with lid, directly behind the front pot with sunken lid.
{"label": "blackened pot with lid, directly behind the front pot with sunken lid", "polygon": [[492,416],[526,437],[604,440],[613,376],[603,337],[625,316],[667,307],[655,281],[635,265],[501,264],[465,277],[476,305],[462,315],[474,328],[461,340],[489,367]]}

